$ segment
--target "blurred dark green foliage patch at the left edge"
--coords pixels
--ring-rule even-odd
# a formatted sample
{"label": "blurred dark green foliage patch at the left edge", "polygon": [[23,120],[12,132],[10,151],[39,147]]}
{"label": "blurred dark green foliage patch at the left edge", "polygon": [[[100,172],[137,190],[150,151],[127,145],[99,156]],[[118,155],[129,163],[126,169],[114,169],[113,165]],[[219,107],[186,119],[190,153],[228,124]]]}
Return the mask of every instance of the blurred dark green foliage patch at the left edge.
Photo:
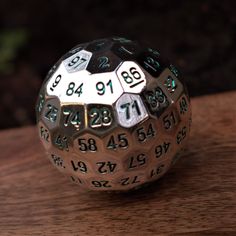
{"label": "blurred dark green foliage patch at the left edge", "polygon": [[10,73],[13,70],[13,63],[18,50],[27,41],[28,33],[23,29],[0,32],[0,73]]}

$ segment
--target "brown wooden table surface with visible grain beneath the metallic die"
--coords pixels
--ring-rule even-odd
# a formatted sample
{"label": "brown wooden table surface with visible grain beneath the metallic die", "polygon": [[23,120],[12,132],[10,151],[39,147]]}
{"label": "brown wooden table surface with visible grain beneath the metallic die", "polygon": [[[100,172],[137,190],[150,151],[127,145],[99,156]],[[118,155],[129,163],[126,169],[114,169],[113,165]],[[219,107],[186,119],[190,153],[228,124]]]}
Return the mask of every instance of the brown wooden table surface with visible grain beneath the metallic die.
{"label": "brown wooden table surface with visible grain beneath the metallic die", "polygon": [[35,127],[0,132],[0,235],[236,235],[236,92],[193,99],[187,151],[155,184],[86,192]]}

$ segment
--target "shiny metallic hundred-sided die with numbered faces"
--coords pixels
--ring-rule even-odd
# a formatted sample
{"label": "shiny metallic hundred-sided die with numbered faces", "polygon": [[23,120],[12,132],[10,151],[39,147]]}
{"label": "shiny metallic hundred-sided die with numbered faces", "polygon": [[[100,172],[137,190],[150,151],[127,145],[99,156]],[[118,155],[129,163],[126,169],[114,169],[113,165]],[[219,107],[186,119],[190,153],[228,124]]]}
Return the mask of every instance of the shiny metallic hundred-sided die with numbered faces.
{"label": "shiny metallic hundred-sided die with numbered faces", "polygon": [[126,38],[80,44],[49,71],[37,125],[52,164],[81,187],[128,190],[159,179],[189,136],[178,70]]}

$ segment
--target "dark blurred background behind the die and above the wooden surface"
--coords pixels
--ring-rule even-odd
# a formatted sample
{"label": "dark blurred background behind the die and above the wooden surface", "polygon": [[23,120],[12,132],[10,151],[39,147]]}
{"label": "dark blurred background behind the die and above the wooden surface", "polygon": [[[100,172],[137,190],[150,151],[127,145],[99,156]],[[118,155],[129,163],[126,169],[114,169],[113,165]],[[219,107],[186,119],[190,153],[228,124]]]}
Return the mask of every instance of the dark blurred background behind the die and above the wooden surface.
{"label": "dark blurred background behind the die and above the wooden surface", "polygon": [[113,35],[158,49],[191,96],[234,90],[235,12],[234,0],[1,0],[0,129],[34,124],[37,93],[62,54]]}

